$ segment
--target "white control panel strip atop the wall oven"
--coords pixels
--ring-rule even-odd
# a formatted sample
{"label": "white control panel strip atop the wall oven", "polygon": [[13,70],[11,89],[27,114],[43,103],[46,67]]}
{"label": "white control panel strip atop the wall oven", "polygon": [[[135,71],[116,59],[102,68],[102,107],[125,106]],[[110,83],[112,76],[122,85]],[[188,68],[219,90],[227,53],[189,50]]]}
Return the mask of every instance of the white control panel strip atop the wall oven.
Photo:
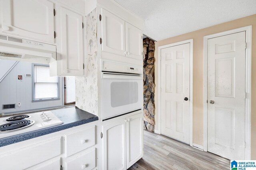
{"label": "white control panel strip atop the wall oven", "polygon": [[128,72],[135,74],[142,74],[143,66],[134,66],[130,64],[123,63],[112,63],[109,61],[102,62],[102,71],[112,71],[112,72]]}

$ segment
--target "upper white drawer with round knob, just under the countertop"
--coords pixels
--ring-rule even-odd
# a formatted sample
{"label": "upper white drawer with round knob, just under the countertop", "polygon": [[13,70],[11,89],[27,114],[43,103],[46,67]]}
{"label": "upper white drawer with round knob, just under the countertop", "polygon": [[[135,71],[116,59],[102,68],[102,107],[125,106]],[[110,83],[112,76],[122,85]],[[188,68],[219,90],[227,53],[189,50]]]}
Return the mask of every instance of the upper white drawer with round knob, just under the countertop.
{"label": "upper white drawer with round knob, just under the countertop", "polygon": [[66,135],[66,157],[95,145],[95,126]]}

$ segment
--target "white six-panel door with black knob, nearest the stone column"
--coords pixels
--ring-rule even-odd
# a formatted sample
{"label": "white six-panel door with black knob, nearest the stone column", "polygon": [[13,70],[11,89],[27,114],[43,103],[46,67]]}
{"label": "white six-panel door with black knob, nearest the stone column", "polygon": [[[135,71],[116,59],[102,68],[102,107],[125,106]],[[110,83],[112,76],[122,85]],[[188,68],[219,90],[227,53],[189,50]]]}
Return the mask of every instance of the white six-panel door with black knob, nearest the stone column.
{"label": "white six-panel door with black knob, nearest the stone column", "polygon": [[190,43],[161,49],[161,133],[189,144]]}

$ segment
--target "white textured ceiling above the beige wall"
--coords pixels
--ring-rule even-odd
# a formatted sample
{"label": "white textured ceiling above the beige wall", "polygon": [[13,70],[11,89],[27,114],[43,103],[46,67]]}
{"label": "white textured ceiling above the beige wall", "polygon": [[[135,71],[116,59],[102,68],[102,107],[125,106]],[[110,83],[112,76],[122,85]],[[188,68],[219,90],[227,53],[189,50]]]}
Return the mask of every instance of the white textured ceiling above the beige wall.
{"label": "white textured ceiling above the beige wall", "polygon": [[115,0],[144,20],[156,41],[256,14],[256,0]]}

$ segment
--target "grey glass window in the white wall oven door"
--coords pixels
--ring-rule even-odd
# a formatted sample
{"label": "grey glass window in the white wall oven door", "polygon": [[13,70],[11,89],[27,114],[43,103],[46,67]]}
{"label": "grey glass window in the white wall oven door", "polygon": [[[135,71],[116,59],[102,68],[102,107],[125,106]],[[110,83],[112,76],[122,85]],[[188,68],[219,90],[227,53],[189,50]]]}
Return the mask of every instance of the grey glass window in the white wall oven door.
{"label": "grey glass window in the white wall oven door", "polygon": [[110,86],[111,107],[138,102],[138,82],[112,82]]}

